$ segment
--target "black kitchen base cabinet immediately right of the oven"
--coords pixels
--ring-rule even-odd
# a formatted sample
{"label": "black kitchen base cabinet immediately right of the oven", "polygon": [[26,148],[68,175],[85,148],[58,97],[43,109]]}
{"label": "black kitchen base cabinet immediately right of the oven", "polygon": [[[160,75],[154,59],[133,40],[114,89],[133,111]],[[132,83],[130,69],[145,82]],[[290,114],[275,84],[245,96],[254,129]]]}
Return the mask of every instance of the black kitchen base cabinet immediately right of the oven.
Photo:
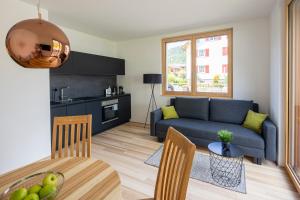
{"label": "black kitchen base cabinet immediately right of the oven", "polygon": [[120,123],[128,122],[131,118],[131,96],[119,97],[119,121]]}

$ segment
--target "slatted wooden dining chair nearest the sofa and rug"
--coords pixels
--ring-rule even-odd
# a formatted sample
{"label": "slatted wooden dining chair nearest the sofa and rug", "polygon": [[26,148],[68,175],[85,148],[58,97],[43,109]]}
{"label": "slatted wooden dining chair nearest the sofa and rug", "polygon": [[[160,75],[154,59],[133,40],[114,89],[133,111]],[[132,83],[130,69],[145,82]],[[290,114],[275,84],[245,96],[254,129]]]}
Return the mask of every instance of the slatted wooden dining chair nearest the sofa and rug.
{"label": "slatted wooden dining chair nearest the sofa and rug", "polygon": [[184,200],[196,146],[170,127],[156,179],[155,200]]}

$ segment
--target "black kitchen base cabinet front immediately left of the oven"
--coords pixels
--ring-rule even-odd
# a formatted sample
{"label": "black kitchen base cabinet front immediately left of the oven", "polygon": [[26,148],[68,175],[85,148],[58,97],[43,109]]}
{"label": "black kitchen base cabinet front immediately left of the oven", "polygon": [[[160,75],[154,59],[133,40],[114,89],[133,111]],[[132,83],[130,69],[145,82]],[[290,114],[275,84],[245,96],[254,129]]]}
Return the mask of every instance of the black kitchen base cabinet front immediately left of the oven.
{"label": "black kitchen base cabinet front immediately left of the oven", "polygon": [[85,103],[86,114],[92,114],[92,132],[97,134],[101,132],[101,101],[91,101]]}

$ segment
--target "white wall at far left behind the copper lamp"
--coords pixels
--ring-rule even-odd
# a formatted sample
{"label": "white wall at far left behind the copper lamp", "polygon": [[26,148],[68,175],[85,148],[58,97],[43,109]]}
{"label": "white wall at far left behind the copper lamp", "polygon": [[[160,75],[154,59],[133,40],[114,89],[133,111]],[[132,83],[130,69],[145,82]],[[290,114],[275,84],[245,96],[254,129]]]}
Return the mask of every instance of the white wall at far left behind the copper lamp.
{"label": "white wall at far left behind the copper lamp", "polygon": [[[18,0],[1,2],[0,173],[50,153],[49,70],[20,67],[5,48],[8,30],[16,22],[36,16],[34,6]],[[47,17],[43,12],[43,18]]]}

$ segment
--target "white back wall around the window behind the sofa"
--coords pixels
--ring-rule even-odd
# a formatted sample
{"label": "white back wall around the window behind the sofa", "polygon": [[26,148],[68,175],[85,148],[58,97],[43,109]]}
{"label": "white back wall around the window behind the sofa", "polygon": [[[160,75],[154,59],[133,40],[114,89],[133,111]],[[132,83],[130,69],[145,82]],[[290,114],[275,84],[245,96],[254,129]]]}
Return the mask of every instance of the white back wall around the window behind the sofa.
{"label": "white back wall around the window behind the sofa", "polygon": [[[161,38],[233,27],[233,96],[252,99],[262,112],[269,112],[269,19],[257,19],[215,27],[206,27],[170,35],[160,35],[117,43],[117,55],[126,60],[126,76],[118,77],[120,85],[132,95],[132,121],[143,122],[150,95],[143,85],[144,73],[161,73]],[[157,87],[159,105],[168,102]]]}

